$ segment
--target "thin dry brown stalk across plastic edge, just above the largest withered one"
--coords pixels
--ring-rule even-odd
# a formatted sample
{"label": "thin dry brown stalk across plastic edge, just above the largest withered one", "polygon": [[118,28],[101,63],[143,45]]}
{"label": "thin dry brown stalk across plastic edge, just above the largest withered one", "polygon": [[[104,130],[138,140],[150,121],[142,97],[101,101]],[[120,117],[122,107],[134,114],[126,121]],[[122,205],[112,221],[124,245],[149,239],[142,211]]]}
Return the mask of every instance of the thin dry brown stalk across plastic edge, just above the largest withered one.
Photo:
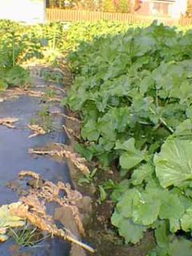
{"label": "thin dry brown stalk across plastic edge, just above the largest withered one", "polygon": [[65,150],[64,146],[61,147],[59,150],[28,150],[29,154],[50,154],[50,155],[58,155],[61,158],[68,158],[74,166],[81,170],[83,174],[90,174],[89,168],[86,166],[85,158],[79,158],[78,154],[71,152],[70,150]]}

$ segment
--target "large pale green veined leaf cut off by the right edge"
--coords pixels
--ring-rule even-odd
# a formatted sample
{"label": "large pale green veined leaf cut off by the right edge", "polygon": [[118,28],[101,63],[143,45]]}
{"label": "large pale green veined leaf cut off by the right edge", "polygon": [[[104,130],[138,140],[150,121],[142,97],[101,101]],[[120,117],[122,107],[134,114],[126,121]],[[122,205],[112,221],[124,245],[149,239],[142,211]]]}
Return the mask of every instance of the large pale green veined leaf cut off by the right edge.
{"label": "large pale green veined leaf cut off by the right edge", "polygon": [[155,171],[162,187],[184,186],[192,179],[192,141],[167,140],[154,156]]}

